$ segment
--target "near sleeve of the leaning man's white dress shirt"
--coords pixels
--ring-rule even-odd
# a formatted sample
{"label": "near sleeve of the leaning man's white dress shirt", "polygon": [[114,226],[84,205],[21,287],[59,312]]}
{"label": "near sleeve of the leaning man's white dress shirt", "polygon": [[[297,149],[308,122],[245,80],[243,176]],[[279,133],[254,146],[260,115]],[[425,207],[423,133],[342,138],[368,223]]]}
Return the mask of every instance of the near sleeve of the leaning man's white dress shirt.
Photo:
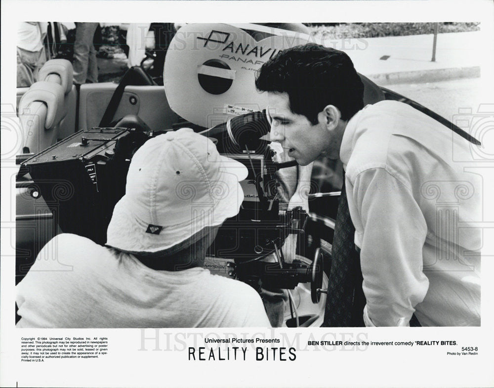
{"label": "near sleeve of the leaning man's white dress shirt", "polygon": [[350,215],[361,248],[367,326],[408,326],[427,293],[424,216],[412,191],[384,168],[347,180]]}

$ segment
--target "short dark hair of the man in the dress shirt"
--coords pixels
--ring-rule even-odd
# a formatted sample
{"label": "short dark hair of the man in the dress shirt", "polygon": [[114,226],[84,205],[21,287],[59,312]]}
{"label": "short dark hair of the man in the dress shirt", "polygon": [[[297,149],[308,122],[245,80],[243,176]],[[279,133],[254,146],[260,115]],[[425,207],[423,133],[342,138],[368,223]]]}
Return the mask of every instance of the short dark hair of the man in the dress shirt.
{"label": "short dark hair of the man in the dress shirt", "polygon": [[336,106],[343,120],[364,107],[364,84],[350,57],[315,43],[279,52],[259,69],[262,92],[288,93],[290,109],[313,124],[325,106]]}

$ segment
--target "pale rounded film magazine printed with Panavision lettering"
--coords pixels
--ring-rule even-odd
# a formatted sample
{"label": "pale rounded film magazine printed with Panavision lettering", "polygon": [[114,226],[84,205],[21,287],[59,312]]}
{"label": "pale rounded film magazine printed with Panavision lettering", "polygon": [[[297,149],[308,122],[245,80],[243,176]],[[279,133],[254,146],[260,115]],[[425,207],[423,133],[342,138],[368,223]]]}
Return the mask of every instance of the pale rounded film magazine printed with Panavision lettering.
{"label": "pale rounded film magazine printed with Panavision lettering", "polygon": [[170,107],[210,128],[267,106],[255,73],[269,58],[307,43],[309,35],[256,24],[188,24],[177,31],[165,60]]}

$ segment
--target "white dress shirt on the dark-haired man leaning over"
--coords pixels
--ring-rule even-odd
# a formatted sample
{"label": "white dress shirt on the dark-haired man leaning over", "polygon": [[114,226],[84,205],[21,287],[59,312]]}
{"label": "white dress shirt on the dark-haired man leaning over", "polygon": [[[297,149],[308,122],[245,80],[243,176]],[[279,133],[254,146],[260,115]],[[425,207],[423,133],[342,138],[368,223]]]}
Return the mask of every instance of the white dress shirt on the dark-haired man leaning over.
{"label": "white dress shirt on the dark-haired man leaning over", "polygon": [[482,177],[470,143],[403,103],[368,105],[348,122],[346,171],[361,248],[368,326],[480,325]]}

